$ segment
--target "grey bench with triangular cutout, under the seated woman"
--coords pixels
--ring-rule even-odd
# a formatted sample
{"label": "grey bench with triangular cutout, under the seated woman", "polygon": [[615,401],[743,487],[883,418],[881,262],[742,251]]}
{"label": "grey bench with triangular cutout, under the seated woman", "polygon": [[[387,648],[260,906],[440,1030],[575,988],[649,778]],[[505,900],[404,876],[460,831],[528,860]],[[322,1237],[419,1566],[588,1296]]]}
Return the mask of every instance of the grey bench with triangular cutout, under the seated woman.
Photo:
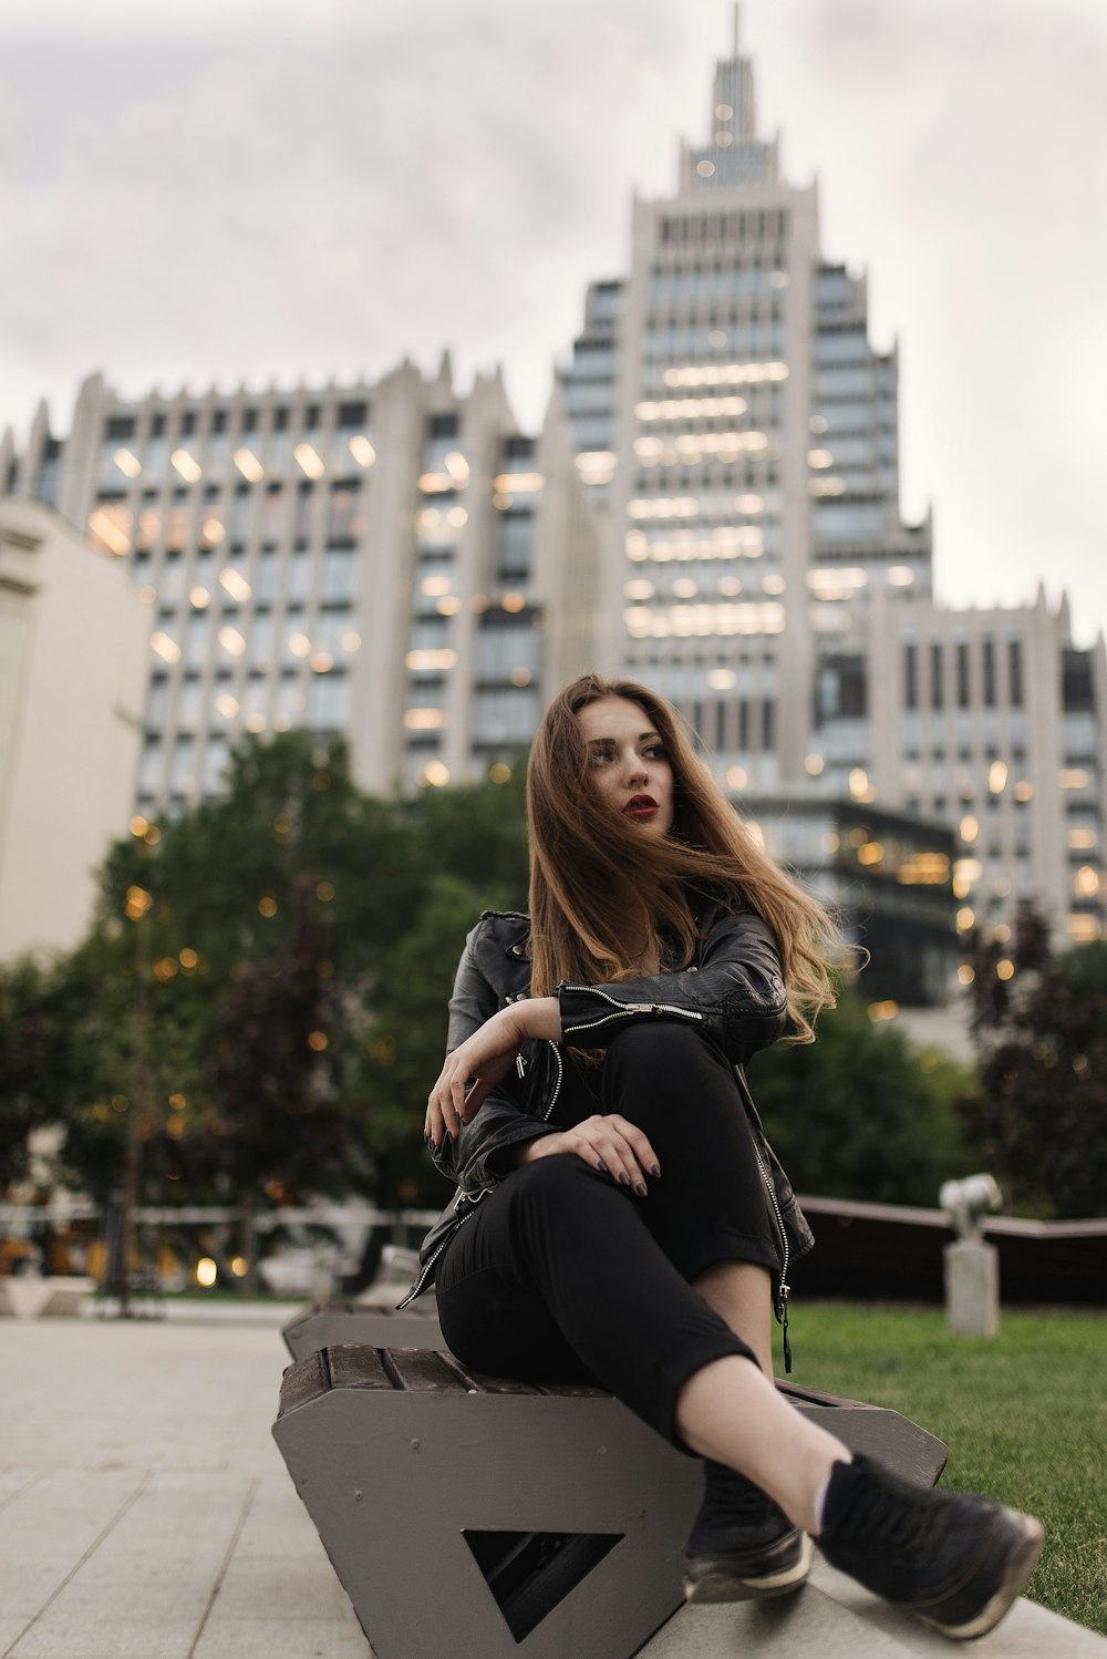
{"label": "grey bench with triangular cutout, under the seated woman", "polygon": [[[911,1480],[945,1468],[897,1412],[777,1387]],[[703,1465],[600,1389],[328,1345],[285,1372],[273,1437],[378,1659],[628,1659],[683,1604]]]}

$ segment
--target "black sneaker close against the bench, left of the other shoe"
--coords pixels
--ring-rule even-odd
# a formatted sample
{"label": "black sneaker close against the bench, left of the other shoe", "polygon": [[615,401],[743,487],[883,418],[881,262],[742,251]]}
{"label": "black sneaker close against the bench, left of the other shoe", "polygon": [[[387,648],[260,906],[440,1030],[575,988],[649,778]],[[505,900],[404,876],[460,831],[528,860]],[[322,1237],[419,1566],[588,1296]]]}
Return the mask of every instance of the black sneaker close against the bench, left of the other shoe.
{"label": "black sneaker close against the bench, left of the other shoe", "polygon": [[744,1475],[704,1460],[706,1491],[684,1551],[686,1601],[790,1596],[810,1569],[810,1538]]}

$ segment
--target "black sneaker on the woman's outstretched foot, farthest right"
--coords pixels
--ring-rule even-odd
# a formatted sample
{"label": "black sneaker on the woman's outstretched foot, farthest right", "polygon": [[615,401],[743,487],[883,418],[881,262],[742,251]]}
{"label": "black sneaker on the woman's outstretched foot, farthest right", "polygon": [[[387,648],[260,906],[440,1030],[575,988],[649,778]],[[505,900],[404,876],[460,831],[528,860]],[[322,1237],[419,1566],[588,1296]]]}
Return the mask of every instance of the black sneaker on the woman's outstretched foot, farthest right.
{"label": "black sneaker on the woman's outstretched foot, farthest right", "polygon": [[1021,1594],[1041,1521],[963,1491],[915,1486],[882,1463],[835,1463],[819,1548],[865,1589],[955,1642],[991,1631]]}

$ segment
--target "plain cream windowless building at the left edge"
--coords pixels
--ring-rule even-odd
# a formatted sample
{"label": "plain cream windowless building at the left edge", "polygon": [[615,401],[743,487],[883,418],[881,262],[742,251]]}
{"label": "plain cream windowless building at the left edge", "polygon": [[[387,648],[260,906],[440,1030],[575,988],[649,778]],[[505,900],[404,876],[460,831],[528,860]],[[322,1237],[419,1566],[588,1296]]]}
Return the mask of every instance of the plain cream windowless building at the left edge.
{"label": "plain cream windowless building at the left edge", "polygon": [[0,498],[0,961],[63,951],[126,834],[151,629],[126,571]]}

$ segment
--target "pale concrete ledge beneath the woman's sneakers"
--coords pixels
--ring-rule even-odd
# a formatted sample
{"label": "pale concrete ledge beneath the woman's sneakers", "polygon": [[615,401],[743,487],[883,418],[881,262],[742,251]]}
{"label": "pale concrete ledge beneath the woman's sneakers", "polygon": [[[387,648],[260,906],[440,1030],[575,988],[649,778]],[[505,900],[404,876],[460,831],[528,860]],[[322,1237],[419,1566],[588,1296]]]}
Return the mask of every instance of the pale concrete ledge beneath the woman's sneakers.
{"label": "pale concrete ledge beneath the woman's sneakers", "polygon": [[[795,1659],[804,1652],[819,1659],[950,1659],[955,1651],[945,1636],[870,1596],[815,1553],[800,1594],[729,1608],[681,1608],[638,1659]],[[998,1631],[963,1651],[988,1659],[1107,1659],[1107,1639],[1021,1599]]]}

